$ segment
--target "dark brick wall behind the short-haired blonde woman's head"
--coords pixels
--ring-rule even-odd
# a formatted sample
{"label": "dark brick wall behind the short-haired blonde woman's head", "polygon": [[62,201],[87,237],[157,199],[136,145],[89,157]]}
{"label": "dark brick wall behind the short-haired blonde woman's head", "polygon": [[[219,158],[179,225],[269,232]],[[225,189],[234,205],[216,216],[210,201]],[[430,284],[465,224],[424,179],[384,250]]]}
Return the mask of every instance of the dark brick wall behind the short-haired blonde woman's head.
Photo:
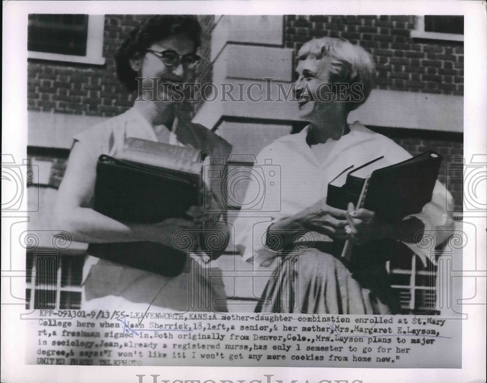
{"label": "dark brick wall behind the short-haired blonde woman's head", "polygon": [[286,16],[285,46],[298,52],[313,37],[343,37],[370,52],[376,87],[463,95],[463,42],[411,37],[414,16]]}

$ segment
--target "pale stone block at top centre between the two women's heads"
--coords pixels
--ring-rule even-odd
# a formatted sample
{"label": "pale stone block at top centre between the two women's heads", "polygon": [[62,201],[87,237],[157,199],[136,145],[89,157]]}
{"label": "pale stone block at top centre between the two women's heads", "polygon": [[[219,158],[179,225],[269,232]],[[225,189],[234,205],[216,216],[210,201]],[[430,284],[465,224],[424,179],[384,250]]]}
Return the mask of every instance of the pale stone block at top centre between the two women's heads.
{"label": "pale stone block at top centre between the two women's heads", "polygon": [[228,42],[282,46],[283,16],[224,15],[211,34],[211,61]]}

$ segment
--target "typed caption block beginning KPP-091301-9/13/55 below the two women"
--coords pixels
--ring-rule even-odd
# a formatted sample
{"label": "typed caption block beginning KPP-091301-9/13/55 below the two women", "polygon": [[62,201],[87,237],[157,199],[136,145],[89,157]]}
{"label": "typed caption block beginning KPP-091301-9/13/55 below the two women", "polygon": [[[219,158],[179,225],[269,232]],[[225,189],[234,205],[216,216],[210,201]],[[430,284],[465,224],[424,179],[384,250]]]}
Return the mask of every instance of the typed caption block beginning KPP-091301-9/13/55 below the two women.
{"label": "typed caption block beginning KPP-091301-9/13/55 below the two women", "polygon": [[434,316],[36,314],[30,365],[461,367],[461,320]]}

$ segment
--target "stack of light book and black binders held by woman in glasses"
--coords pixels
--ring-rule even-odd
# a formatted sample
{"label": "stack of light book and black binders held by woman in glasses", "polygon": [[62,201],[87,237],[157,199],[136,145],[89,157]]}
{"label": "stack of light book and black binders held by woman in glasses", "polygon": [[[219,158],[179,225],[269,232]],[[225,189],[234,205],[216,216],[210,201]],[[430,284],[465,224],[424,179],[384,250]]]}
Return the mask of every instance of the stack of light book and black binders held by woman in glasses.
{"label": "stack of light book and black binders held by woman in glasses", "polygon": [[[190,220],[186,211],[202,203],[204,164],[197,149],[128,138],[116,158],[98,159],[94,210],[126,223]],[[187,258],[181,250],[147,241],[90,244],[88,252],[165,276],[179,275]]]}

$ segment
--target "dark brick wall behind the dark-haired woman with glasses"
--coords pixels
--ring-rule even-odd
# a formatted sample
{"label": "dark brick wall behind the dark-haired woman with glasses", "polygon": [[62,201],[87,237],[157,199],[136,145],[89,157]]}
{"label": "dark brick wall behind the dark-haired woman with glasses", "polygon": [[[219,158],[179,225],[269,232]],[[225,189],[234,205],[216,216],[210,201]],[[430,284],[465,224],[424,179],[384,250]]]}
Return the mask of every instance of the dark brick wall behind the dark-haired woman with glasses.
{"label": "dark brick wall behind the dark-haired woman with glasses", "polygon": [[[134,94],[127,92],[116,75],[114,55],[130,31],[147,15],[106,15],[103,40],[105,65],[29,60],[27,65],[27,108],[45,112],[112,117],[132,106]],[[211,79],[208,36],[213,16],[200,16],[206,27],[199,70]],[[208,74],[209,73],[209,74]]]}

